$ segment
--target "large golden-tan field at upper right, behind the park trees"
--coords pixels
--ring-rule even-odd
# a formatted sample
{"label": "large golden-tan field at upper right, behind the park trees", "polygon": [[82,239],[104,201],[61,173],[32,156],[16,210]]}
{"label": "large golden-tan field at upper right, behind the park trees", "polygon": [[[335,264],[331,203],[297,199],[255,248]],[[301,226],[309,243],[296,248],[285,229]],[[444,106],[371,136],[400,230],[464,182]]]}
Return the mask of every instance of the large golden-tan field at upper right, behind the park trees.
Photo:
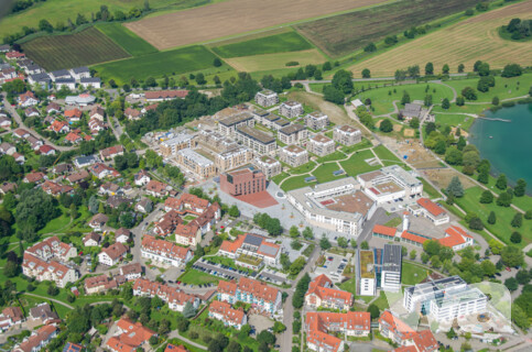
{"label": "large golden-tan field at upper right, behind the park trees", "polygon": [[373,76],[386,77],[412,65],[423,68],[427,62],[434,64],[435,72],[448,64],[452,73],[457,72],[459,64],[466,66],[466,72],[471,70],[478,59],[488,62],[491,68],[502,68],[508,63],[528,66],[532,62],[532,45],[506,41],[498,34],[498,29],[515,16],[532,16],[532,2],[523,1],[476,15],[357,63],[349,69],[360,73],[369,68]]}

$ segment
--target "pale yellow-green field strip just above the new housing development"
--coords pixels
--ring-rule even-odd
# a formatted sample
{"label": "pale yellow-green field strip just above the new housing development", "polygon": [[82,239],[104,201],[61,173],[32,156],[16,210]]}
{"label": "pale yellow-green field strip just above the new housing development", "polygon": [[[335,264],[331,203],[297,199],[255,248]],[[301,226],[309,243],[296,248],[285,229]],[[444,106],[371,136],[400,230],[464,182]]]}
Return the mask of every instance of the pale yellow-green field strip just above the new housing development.
{"label": "pale yellow-green field strip just above the new housing development", "polygon": [[258,72],[286,68],[286,63],[297,62],[301,67],[310,64],[317,65],[326,61],[325,56],[317,48],[301,52],[264,54],[256,56],[243,56],[226,58],[226,62],[238,72]]}

